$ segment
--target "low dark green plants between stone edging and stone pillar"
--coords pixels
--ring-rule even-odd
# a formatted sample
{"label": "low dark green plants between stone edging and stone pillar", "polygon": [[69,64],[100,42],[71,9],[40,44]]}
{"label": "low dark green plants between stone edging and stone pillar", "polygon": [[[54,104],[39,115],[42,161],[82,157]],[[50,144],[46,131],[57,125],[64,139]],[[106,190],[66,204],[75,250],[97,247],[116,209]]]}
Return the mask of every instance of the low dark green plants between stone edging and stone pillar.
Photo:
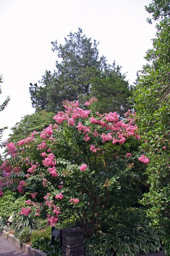
{"label": "low dark green plants between stone edging and stone pillar", "polygon": [[31,246],[47,253],[48,256],[62,256],[62,248],[59,247],[58,238],[55,238],[55,244],[51,243],[50,238],[45,237],[40,240],[35,240]]}

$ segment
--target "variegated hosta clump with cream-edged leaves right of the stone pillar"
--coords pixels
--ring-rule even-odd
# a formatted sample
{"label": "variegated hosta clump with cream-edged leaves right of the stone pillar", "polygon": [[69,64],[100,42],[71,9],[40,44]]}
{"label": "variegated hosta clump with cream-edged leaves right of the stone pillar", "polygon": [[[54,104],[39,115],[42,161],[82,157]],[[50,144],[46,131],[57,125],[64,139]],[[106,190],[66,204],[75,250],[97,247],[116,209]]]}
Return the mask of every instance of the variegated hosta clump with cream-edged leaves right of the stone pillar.
{"label": "variegated hosta clump with cream-edged leaves right of the stone pillar", "polygon": [[137,256],[139,253],[157,252],[163,248],[159,241],[160,232],[154,227],[148,227],[148,223],[138,224],[136,228],[127,231],[126,226],[117,227],[117,232],[112,229],[109,233],[99,233],[85,239],[86,256]]}

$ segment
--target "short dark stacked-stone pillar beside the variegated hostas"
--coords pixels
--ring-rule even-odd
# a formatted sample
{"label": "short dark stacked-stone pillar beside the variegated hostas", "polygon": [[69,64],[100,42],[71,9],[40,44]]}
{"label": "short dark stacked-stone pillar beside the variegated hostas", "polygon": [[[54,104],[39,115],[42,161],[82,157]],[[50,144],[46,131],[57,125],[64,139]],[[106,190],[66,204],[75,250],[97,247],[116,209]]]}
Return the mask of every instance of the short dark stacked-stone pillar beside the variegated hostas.
{"label": "short dark stacked-stone pillar beside the variegated hostas", "polygon": [[63,256],[84,256],[84,228],[63,228]]}

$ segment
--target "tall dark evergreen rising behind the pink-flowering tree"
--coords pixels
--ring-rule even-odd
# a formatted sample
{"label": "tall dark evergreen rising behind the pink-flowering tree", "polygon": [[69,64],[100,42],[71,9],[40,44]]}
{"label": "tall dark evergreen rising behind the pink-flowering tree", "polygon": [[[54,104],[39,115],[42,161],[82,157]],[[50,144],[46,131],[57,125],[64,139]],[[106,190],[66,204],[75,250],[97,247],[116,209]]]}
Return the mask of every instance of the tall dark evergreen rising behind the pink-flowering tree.
{"label": "tall dark evergreen rising behind the pink-flowering tree", "polygon": [[32,106],[36,111],[61,111],[64,100],[83,103],[92,96],[99,98],[99,110],[102,112],[115,110],[122,114],[128,110],[126,99],[132,88],[115,63],[111,66],[104,56],[99,58],[98,44],[96,40],[92,42],[87,38],[81,28],[76,33],[70,32],[63,45],[52,42],[52,51],[57,52],[61,61],[56,60],[53,73],[46,70],[39,85],[30,83]]}

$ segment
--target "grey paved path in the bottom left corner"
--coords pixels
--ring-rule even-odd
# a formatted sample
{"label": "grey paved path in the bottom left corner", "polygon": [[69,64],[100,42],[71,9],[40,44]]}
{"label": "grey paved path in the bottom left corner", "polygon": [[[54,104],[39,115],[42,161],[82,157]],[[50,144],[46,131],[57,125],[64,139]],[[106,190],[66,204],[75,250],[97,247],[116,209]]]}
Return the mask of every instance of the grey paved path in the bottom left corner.
{"label": "grey paved path in the bottom left corner", "polygon": [[11,244],[4,236],[0,236],[0,256],[30,256]]}

